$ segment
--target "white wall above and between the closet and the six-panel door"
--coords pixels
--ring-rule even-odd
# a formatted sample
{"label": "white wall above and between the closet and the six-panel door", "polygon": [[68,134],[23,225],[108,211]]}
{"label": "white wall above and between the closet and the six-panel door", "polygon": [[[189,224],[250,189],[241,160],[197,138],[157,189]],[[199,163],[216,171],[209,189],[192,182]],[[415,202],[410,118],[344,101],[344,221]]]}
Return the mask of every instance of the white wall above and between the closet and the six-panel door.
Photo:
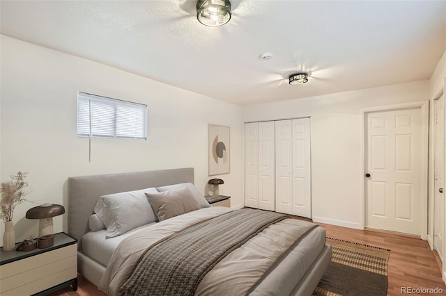
{"label": "white wall above and between the closet and the six-panel door", "polygon": [[[300,87],[305,85],[297,85],[295,91]],[[360,110],[428,99],[429,81],[417,81],[246,106],[243,121],[311,116],[312,216],[316,222],[360,229],[364,223],[360,181],[365,173],[360,171]]]}

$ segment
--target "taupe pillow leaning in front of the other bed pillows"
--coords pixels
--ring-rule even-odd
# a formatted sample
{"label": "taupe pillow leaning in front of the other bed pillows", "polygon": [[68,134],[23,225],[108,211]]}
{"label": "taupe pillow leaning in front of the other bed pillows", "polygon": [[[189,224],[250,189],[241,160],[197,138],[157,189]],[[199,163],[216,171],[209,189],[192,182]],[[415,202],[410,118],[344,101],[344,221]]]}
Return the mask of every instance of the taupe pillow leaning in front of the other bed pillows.
{"label": "taupe pillow leaning in front of the other bed pillows", "polygon": [[188,188],[158,193],[146,192],[146,196],[160,221],[200,209]]}

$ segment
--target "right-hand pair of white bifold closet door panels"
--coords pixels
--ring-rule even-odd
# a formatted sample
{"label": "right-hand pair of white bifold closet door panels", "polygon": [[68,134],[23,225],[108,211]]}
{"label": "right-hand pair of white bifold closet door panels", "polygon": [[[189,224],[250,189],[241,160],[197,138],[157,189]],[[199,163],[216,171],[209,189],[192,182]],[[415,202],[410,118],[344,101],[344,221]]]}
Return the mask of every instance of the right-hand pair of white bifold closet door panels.
{"label": "right-hand pair of white bifold closet door panels", "polygon": [[276,211],[312,216],[310,120],[275,122]]}

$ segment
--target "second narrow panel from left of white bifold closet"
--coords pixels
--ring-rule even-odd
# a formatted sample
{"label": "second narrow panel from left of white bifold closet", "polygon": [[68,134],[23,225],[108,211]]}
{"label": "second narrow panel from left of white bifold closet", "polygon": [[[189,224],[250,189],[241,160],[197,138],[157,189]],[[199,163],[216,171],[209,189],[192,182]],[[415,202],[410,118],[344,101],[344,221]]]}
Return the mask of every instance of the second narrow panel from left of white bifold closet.
{"label": "second narrow panel from left of white bifold closet", "polygon": [[275,124],[259,122],[259,208],[275,210]]}

